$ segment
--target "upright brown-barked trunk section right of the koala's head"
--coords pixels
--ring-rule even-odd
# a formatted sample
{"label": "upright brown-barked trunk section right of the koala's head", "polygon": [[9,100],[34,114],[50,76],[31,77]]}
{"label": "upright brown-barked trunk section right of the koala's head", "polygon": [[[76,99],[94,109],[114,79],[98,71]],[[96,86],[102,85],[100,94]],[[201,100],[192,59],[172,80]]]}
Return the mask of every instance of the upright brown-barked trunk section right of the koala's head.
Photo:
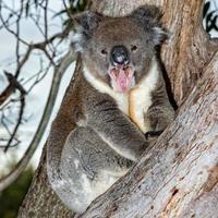
{"label": "upright brown-barked trunk section right of the koala's head", "polygon": [[218,48],[203,28],[204,3],[204,0],[183,3],[174,0],[166,1],[162,8],[162,23],[171,35],[162,47],[161,58],[178,106],[203,76],[204,66]]}

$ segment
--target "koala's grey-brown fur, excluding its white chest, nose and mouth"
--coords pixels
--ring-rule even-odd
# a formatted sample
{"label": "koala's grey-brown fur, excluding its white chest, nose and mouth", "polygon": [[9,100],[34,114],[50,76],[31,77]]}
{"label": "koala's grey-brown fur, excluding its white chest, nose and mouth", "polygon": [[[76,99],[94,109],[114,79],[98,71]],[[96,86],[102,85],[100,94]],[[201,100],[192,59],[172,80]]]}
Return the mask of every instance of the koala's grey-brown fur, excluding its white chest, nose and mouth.
{"label": "koala's grey-brown fur, excluding its white chest, nose and mouth", "polygon": [[[148,5],[124,17],[85,12],[75,17],[80,26],[72,46],[82,48],[84,65],[96,81],[111,89],[108,75],[110,60],[101,50],[109,53],[113,46],[125,46],[130,51],[137,85],[148,76],[152,62],[157,62],[154,58],[156,46],[161,44],[165,35],[159,16],[159,10]],[[137,51],[131,51],[134,45]],[[144,114],[144,122],[150,124],[152,131],[165,130],[174,117],[158,62],[157,71],[157,83],[147,94],[152,96],[152,104]],[[74,93],[73,122],[76,126],[62,146],[64,126],[59,126],[59,121],[56,121],[47,150],[51,186],[62,202],[78,214],[125,174],[148,146],[144,133],[119,108],[116,99],[93,87],[84,72],[81,73]]]}

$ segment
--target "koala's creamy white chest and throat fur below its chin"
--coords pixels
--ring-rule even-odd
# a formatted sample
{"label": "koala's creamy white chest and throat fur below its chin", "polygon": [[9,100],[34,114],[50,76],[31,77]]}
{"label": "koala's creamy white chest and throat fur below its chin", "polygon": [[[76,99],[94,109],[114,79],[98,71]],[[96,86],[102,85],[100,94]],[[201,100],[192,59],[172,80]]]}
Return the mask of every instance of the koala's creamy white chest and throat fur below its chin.
{"label": "koala's creamy white chest and throat fur below its chin", "polygon": [[156,59],[153,60],[147,75],[126,94],[114,92],[108,84],[96,80],[86,66],[84,66],[84,75],[97,90],[110,95],[117,101],[120,110],[129,116],[141,131],[145,133],[150,130],[149,123],[144,120],[144,114],[152,105],[152,92],[158,81],[159,74]]}

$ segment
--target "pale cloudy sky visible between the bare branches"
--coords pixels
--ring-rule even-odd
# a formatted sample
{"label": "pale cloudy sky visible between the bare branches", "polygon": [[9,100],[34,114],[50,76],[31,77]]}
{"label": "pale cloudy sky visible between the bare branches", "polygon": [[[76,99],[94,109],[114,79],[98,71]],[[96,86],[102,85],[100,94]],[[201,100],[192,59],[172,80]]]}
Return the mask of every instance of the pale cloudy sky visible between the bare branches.
{"label": "pale cloudy sky visible between the bare branches", "polygon": [[[12,2],[12,0],[8,0],[7,2],[10,3]],[[20,1],[14,1],[14,2],[20,2]],[[216,1],[213,2],[213,7],[217,7]],[[62,1],[52,0],[50,1],[49,8],[58,12],[62,9]],[[61,19],[59,16],[53,19],[52,15],[53,15],[52,13],[49,15],[50,16],[49,19],[52,24],[49,26],[50,35],[61,31]],[[22,29],[21,31],[22,37],[24,37],[28,41],[36,43],[43,39],[38,29],[36,29],[35,25],[33,25],[33,23],[29,21],[23,21],[21,25],[21,29]],[[217,36],[217,33],[215,32],[211,34],[214,36],[216,34]],[[68,49],[68,47],[69,47],[69,41],[66,41],[65,45],[63,45],[62,49]],[[13,36],[7,33],[5,31],[0,31],[0,93],[8,85],[8,81],[3,74],[3,70],[8,70],[10,72],[14,71],[14,64],[11,64],[11,62],[14,61],[14,52],[15,52],[15,40]],[[28,78],[37,72],[38,70],[37,60],[38,59],[34,56],[29,59],[28,64],[24,68],[22,75],[20,76],[20,80]],[[56,117],[56,113],[60,107],[63,94],[65,93],[65,88],[68,87],[68,84],[72,77],[73,69],[74,69],[74,63],[66,71],[61,82],[58,99],[53,107],[53,112],[52,112],[50,122],[39,144],[39,147],[36,154],[34,155],[34,158],[32,159],[32,164],[34,164],[35,167],[38,164],[43,146],[45,145],[45,142],[47,140],[49,129],[50,129],[50,123]],[[22,143],[17,147],[9,149],[7,154],[4,154],[0,149],[0,174],[2,170],[4,169],[5,164],[11,159],[19,160],[23,156],[27,146],[29,145],[29,142],[32,141],[34,133],[37,129],[37,125],[40,122],[44,107],[49,94],[51,78],[52,78],[52,71],[49,71],[48,74],[45,76],[45,78],[38,85],[36,85],[34,89],[31,92],[31,94],[26,97],[25,116],[28,119],[24,125],[21,125],[20,131],[19,131],[20,140],[22,141]],[[24,87],[28,88],[29,84],[28,83],[25,84]],[[16,110],[8,111],[7,116],[9,117],[15,116],[14,112],[16,112]],[[3,128],[0,124],[0,136],[2,137],[4,135],[5,135],[5,132],[3,131]],[[14,156],[14,154],[16,157]]]}

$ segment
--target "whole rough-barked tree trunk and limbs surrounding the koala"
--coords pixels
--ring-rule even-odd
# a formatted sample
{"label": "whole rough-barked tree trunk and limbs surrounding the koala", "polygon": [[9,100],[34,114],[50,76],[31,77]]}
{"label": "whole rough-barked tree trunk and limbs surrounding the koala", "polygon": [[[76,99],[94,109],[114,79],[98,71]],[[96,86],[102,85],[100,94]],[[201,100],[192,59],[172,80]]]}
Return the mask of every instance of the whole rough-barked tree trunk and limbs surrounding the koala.
{"label": "whole rough-barked tree trunk and limbs surrounding the koala", "polygon": [[[94,0],[92,8],[123,15],[144,3],[162,7],[171,36],[161,58],[180,110],[134,169],[82,217],[218,217],[218,43],[202,27],[204,1]],[[75,72],[55,122],[72,116],[69,108],[78,76]],[[65,132],[73,128],[59,124]],[[19,213],[19,218],[29,217],[71,217],[48,184],[46,149]]]}

